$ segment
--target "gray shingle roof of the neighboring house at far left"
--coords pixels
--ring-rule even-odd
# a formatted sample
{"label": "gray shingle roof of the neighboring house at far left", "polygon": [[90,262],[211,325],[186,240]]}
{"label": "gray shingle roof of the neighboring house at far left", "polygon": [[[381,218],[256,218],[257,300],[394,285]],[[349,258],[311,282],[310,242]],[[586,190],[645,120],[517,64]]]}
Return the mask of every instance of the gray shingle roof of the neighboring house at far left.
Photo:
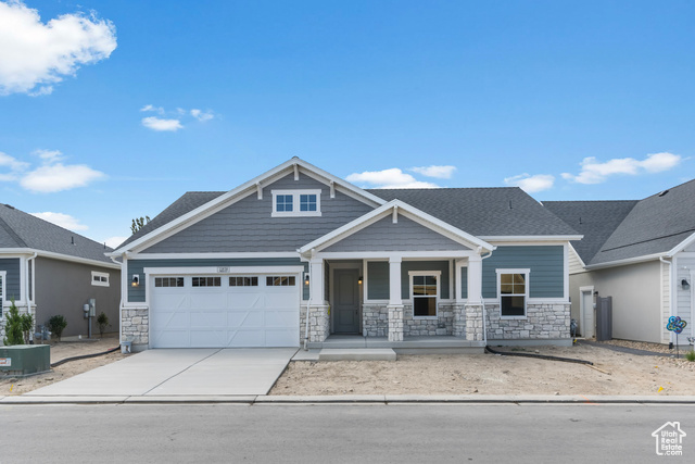
{"label": "gray shingle roof of the neighboring house at far left", "polygon": [[[74,242],[74,244],[73,244]],[[112,251],[79,234],[0,203],[0,249],[28,248],[113,264]]]}

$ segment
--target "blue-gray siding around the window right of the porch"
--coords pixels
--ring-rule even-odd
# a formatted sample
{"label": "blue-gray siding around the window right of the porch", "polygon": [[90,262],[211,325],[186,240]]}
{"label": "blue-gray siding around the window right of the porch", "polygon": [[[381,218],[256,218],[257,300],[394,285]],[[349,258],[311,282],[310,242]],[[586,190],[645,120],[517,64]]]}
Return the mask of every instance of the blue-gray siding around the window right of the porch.
{"label": "blue-gray siding around the window right of the porch", "polygon": [[530,268],[530,298],[563,298],[564,255],[561,246],[497,247],[482,262],[483,298],[497,298],[498,268]]}

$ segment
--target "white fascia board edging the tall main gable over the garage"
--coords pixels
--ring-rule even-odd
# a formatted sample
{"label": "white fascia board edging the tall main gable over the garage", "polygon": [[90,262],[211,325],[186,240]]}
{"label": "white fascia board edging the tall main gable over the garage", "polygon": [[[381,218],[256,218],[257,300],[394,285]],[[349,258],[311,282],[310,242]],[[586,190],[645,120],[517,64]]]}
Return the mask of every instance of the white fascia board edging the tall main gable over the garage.
{"label": "white fascia board edging the tall main gable over the garage", "polygon": [[[205,217],[206,213],[214,211],[215,208],[222,205],[222,204],[226,204],[227,201],[233,200],[235,197],[241,196],[241,195],[250,195],[253,192],[253,190],[257,187],[258,184],[261,184],[261,187],[263,187],[263,183],[268,183],[268,180],[273,180],[275,181],[276,179],[274,179],[274,177],[278,176],[279,174],[283,173],[288,168],[293,168],[294,165],[298,165],[299,167],[302,168],[302,171],[304,172],[304,174],[309,175],[309,173],[315,173],[318,176],[325,177],[326,179],[328,179],[329,181],[333,181],[334,185],[338,185],[342,188],[344,188],[345,190],[352,191],[354,193],[356,193],[359,197],[364,197],[365,199],[368,199],[372,202],[375,202],[376,204],[383,204],[386,201],[379,197],[376,197],[363,189],[361,189],[359,187],[353,186],[350,183],[346,183],[316,166],[314,166],[313,164],[307,163],[304,160],[301,160],[299,158],[292,158],[291,160],[286,161],[285,163],[274,167],[270,171],[267,171],[264,174],[261,174],[260,176],[254,177],[253,179],[240,185],[239,187],[229,190],[226,193],[220,195],[219,197],[215,198],[214,200],[208,201],[205,204],[202,204],[200,206],[198,206],[197,209],[189,211],[188,213],[184,214],[182,216],[177,217],[176,220],[152,230],[151,233],[140,237],[137,240],[134,240],[132,242],[128,243],[125,247],[122,247],[117,250],[114,250],[112,253],[109,254],[109,256],[119,256],[123,253],[125,253],[126,251],[136,251],[139,248],[142,248],[143,244],[150,244],[150,242],[152,240],[154,240],[156,237],[172,230],[172,229],[176,229],[179,226],[182,226],[187,223],[189,223],[190,221],[195,220],[198,216],[201,216],[200,218]],[[278,176],[279,177],[279,176]],[[316,178],[315,176],[309,176],[313,178]],[[271,184],[271,181],[269,183]]]}

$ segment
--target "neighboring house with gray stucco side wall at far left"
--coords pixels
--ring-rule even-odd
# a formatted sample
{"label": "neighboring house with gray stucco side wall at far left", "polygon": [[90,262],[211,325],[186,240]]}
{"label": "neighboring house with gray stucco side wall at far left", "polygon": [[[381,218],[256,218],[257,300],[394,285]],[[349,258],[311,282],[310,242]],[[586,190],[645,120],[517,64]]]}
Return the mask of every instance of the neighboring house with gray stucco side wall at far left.
{"label": "neighboring house with gray stucco side wall at far left", "polygon": [[[56,314],[67,327],[63,336],[87,335],[83,308],[96,299],[113,331],[118,324],[121,266],[104,255],[102,243],[0,203],[0,343],[8,308],[27,308],[37,325]],[[28,303],[27,303],[28,302]],[[96,321],[92,334],[99,334]]]}

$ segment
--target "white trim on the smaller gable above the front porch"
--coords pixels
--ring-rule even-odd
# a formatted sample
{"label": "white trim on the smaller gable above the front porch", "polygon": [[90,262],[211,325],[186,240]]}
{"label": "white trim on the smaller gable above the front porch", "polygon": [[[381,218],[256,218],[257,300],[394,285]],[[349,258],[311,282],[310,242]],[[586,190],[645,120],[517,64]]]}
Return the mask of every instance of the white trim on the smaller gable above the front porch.
{"label": "white trim on the smaller gable above the front porch", "polygon": [[305,244],[300,248],[298,251],[300,254],[307,254],[312,251],[320,251],[343,240],[344,238],[375,224],[376,222],[387,217],[390,214],[401,214],[408,220],[412,220],[421,226],[425,226],[431,230],[434,230],[442,236],[456,241],[460,244],[464,244],[470,249],[479,249],[480,252],[490,252],[493,251],[496,247],[481,240],[464,230],[460,230],[451,224],[447,224],[443,221],[438,220],[434,216],[431,216],[424,211],[418,210],[415,206],[410,206],[407,203],[402,202],[401,200],[392,200],[387,204],[383,204],[380,208],[358,217],[342,227],[337,228],[336,230],[326,234],[325,236]]}

